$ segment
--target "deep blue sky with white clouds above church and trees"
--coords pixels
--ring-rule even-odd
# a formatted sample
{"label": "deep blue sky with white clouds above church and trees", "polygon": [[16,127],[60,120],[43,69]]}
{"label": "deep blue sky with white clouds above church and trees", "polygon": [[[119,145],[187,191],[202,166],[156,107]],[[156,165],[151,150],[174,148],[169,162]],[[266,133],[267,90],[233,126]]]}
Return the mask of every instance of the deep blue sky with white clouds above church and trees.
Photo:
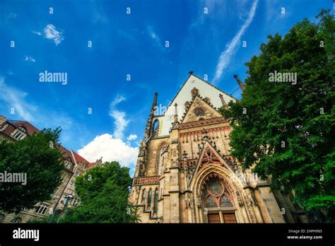
{"label": "deep blue sky with white clouds above church and trees", "polygon": [[[0,0],[0,115],[61,126],[66,148],[134,168],[155,91],[168,105],[192,70],[232,93],[233,74],[247,76],[245,63],[267,35],[332,7],[331,0]],[[40,83],[45,71],[67,73],[67,84]]]}

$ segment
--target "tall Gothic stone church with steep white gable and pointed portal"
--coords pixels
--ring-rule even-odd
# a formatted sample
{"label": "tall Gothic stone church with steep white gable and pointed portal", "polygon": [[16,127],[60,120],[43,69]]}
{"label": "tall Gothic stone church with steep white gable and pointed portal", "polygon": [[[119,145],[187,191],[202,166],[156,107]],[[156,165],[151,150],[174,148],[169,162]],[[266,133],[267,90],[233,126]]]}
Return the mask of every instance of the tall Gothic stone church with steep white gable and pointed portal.
{"label": "tall Gothic stone church with steep white gable and pointed portal", "polygon": [[230,156],[232,129],[218,108],[236,99],[189,74],[163,114],[154,95],[129,197],[141,223],[302,221],[287,197]]}

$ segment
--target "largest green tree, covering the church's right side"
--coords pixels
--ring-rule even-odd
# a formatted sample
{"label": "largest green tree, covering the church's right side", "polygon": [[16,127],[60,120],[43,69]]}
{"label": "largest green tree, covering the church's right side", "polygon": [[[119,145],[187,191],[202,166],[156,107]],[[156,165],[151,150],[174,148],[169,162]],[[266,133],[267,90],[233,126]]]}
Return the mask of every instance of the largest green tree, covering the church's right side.
{"label": "largest green tree, covering the church's right side", "polygon": [[[334,31],[334,16],[322,11],[316,23],[270,35],[246,64],[242,99],[221,109],[233,127],[232,155],[324,221],[335,219]],[[270,82],[275,71],[298,79]]]}

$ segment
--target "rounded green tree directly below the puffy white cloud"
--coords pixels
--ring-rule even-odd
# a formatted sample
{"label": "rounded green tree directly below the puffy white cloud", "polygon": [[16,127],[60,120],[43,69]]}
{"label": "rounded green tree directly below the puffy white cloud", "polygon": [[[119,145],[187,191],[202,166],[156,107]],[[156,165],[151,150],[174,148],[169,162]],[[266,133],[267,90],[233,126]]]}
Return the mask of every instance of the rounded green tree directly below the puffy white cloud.
{"label": "rounded green tree directly below the puffy white cloud", "polygon": [[129,168],[105,163],[76,178],[81,205],[66,212],[62,223],[134,223],[136,209],[129,204]]}

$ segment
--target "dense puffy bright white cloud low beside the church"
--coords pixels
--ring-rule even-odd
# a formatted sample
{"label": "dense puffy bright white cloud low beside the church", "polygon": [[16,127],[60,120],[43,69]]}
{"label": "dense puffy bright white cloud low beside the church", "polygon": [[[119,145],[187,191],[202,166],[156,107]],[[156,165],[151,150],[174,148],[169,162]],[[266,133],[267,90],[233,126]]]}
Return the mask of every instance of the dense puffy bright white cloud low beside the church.
{"label": "dense puffy bright white cloud low beside the church", "polygon": [[111,134],[102,134],[79,149],[78,153],[90,162],[95,162],[102,156],[104,161],[116,160],[120,165],[129,167],[136,163],[139,148],[127,146],[124,141],[114,139]]}

